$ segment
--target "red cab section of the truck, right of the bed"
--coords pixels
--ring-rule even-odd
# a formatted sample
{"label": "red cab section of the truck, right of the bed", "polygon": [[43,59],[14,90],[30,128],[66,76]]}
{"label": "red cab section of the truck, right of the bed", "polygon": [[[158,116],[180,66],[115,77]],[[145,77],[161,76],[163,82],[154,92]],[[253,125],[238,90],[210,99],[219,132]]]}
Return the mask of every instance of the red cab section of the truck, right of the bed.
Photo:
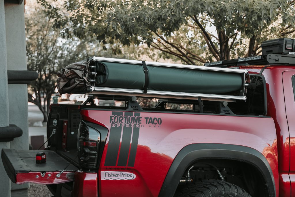
{"label": "red cab section of the truck, right of the bed", "polygon": [[[295,195],[295,100],[294,66],[244,66],[249,73],[262,73],[266,79],[267,115],[276,126],[279,187],[277,196]],[[263,69],[263,71],[261,71]],[[292,191],[292,193],[291,193]]]}

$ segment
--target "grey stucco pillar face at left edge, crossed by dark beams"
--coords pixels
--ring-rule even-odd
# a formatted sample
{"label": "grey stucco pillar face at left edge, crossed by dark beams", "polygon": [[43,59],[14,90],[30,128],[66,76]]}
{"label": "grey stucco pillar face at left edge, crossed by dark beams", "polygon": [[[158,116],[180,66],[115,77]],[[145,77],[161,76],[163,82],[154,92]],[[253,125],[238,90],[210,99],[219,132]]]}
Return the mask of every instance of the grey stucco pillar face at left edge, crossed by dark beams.
{"label": "grey stucco pillar face at left edge, crossed by dark beams", "polygon": [[[1,1],[1,0],[0,0]],[[7,69],[27,70],[24,26],[24,2],[5,1]],[[9,123],[22,129],[23,135],[10,142],[11,149],[29,149],[27,84],[8,84]],[[28,184],[11,184],[11,196],[28,196]]]}

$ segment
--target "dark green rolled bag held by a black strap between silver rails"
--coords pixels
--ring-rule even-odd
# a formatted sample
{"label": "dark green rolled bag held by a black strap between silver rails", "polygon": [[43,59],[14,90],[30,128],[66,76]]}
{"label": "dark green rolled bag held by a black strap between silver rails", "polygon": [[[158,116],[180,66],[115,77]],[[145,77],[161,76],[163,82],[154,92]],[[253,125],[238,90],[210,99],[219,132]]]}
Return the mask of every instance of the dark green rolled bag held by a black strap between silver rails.
{"label": "dark green rolled bag held by a black strap between silver rails", "polygon": [[[244,75],[201,69],[151,66],[148,68],[148,90],[224,94],[235,92],[245,83]],[[143,89],[145,73],[142,64],[96,62],[95,86]]]}

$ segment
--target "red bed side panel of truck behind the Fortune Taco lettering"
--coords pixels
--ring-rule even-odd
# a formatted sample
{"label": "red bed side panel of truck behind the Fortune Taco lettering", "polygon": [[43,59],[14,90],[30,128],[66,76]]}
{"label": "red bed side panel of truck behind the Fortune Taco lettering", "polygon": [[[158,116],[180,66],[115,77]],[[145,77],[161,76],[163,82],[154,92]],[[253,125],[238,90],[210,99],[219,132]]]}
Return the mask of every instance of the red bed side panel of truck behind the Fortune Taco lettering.
{"label": "red bed side panel of truck behind the Fortune Taco lettering", "polygon": [[[114,154],[116,163],[114,166],[106,166],[107,151],[112,148],[109,147],[112,140],[110,138],[118,135],[118,133],[112,133],[117,132],[117,127],[112,127],[110,123],[110,117],[115,113],[123,114],[124,112],[81,110],[83,120],[101,124],[109,129],[99,166],[99,196],[112,196],[114,193],[118,193],[119,196],[158,196],[176,155],[185,146],[199,143],[235,144],[258,150],[268,160],[276,180],[276,187],[278,187],[276,131],[272,118],[141,112],[142,124],[140,124],[137,136],[133,129],[132,143],[129,143],[128,147],[123,147],[118,139],[118,150]],[[147,117],[161,117],[162,123],[160,125],[146,124],[145,118]],[[234,124],[229,124],[229,122]],[[123,129],[119,132],[123,140],[124,135],[127,135],[126,131]],[[134,166],[130,166],[128,159],[130,159],[131,147],[137,140],[136,159]],[[129,146],[131,149],[127,163],[119,165],[119,159],[122,159],[120,153],[125,151],[124,148],[129,150]],[[113,171],[132,172],[136,178],[103,180],[103,172],[112,171],[112,169]]]}

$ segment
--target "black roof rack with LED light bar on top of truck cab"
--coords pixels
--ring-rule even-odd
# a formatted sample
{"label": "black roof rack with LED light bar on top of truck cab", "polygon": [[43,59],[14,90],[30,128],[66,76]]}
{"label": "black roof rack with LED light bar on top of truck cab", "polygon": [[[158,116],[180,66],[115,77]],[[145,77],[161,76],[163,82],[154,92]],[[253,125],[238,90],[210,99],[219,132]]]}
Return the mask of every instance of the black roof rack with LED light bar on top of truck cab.
{"label": "black roof rack with LED light bar on top of truck cab", "polygon": [[226,68],[230,66],[249,66],[264,64],[295,65],[295,55],[267,54],[216,62],[206,62],[204,66]]}

